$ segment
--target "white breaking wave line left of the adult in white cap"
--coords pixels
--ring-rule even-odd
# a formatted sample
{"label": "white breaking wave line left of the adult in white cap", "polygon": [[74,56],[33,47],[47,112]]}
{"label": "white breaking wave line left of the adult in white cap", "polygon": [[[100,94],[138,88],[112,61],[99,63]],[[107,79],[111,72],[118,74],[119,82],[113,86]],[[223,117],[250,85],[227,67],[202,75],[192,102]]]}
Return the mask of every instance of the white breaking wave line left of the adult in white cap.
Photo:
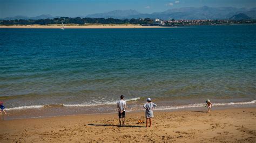
{"label": "white breaking wave line left of the adult in white cap", "polygon": [[[140,97],[136,98],[131,98],[125,100],[126,102],[130,101],[137,101],[140,99]],[[106,102],[106,103],[94,103],[94,104],[47,104],[47,105],[31,105],[31,106],[18,106],[15,108],[6,108],[6,110],[22,110],[22,109],[36,109],[36,108],[52,108],[52,107],[61,107],[61,106],[66,106],[66,107],[84,107],[84,106],[99,106],[99,105],[111,105],[111,104],[116,104],[117,101],[115,102]]]}

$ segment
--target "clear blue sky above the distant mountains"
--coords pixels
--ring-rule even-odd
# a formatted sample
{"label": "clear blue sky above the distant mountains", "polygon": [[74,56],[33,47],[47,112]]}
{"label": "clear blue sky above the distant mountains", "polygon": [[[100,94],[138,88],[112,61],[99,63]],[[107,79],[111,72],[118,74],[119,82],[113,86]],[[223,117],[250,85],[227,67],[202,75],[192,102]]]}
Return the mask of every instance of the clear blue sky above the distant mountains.
{"label": "clear blue sky above the distant mountains", "polygon": [[200,6],[255,8],[255,0],[0,0],[0,18],[12,16],[86,16],[112,10],[137,10],[141,13]]}

